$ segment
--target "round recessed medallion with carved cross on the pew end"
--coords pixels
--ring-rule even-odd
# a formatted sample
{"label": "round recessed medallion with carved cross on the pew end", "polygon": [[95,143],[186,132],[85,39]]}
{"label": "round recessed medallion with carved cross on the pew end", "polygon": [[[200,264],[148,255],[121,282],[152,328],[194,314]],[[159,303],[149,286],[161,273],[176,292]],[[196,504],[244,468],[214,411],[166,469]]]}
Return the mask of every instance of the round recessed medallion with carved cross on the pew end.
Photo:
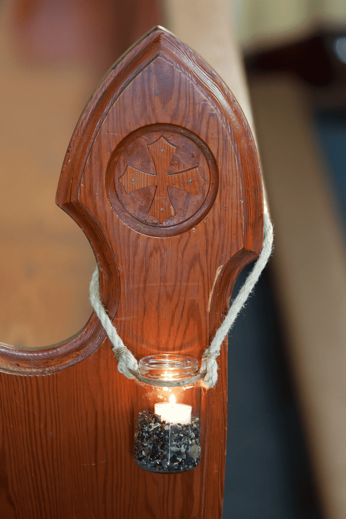
{"label": "round recessed medallion with carved cross on the pew end", "polygon": [[197,135],[174,125],[151,125],[116,147],[106,185],[109,202],[126,225],[167,237],[188,230],[209,212],[217,167]]}

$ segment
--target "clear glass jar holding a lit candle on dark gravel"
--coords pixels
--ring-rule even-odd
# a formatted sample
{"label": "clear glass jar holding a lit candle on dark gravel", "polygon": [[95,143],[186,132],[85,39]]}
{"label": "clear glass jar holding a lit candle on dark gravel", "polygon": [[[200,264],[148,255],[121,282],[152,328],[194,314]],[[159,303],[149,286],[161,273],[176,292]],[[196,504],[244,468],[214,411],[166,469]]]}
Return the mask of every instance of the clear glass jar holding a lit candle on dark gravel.
{"label": "clear glass jar holding a lit candle on dark gravel", "polygon": [[144,357],[135,405],[134,460],[150,472],[177,473],[201,459],[199,365],[175,353]]}

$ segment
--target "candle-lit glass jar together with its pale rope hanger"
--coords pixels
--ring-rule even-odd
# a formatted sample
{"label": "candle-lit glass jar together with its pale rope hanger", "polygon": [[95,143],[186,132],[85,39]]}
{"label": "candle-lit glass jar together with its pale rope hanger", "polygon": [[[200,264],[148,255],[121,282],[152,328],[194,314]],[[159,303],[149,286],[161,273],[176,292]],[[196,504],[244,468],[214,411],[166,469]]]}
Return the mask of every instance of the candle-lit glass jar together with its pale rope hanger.
{"label": "candle-lit glass jar together with its pale rope hanger", "polygon": [[134,460],[144,470],[159,473],[185,472],[197,467],[201,458],[201,387],[217,381],[216,358],[238,313],[266,266],[273,245],[273,227],[267,204],[264,214],[263,248],[215,337],[204,352],[201,367],[196,359],[175,353],[144,357],[137,363],[124,346],[107,316],[99,294],[99,270],[90,283],[90,301],[98,315],[118,361],[118,370],[136,378]]}

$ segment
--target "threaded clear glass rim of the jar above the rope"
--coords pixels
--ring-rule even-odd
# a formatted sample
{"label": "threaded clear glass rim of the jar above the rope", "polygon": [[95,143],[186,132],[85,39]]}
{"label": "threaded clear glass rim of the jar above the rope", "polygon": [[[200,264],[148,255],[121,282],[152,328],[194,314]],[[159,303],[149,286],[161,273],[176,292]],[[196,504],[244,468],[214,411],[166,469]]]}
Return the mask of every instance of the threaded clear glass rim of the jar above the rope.
{"label": "threaded clear glass rim of the jar above the rope", "polygon": [[179,353],[159,353],[143,357],[139,372],[150,380],[184,380],[197,375],[198,360]]}

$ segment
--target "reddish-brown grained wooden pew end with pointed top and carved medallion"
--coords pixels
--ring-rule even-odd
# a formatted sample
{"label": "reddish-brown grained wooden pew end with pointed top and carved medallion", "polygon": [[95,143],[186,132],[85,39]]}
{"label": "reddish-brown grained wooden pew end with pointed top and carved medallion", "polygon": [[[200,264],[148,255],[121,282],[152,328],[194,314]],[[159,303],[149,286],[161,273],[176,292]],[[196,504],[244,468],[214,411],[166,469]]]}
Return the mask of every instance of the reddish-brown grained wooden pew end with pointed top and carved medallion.
{"label": "reddish-brown grained wooden pew end with pointed top and carved medallion", "polygon": [[[141,139],[147,139],[146,162],[140,153],[129,163],[128,147],[135,151]],[[193,146],[200,151],[196,163]],[[158,158],[162,149],[170,160]],[[141,173],[130,170],[121,182],[128,167]],[[188,170],[195,170],[187,179],[191,189],[185,177],[175,187],[170,177]],[[156,176],[157,183],[148,185],[144,176]],[[132,178],[137,188],[129,193]],[[142,205],[131,197],[136,192]],[[260,252],[263,225],[251,131],[209,65],[161,28],[145,35],[81,115],[57,203],[88,237],[102,301],[135,356],[179,351],[200,359],[240,270]],[[64,345],[0,350],[3,371],[38,374],[70,366],[49,377],[2,375],[9,513],[20,519],[221,517],[227,344],[218,383],[202,399],[201,463],[174,475],[135,465],[135,383],[118,373],[109,346],[92,316]]]}

